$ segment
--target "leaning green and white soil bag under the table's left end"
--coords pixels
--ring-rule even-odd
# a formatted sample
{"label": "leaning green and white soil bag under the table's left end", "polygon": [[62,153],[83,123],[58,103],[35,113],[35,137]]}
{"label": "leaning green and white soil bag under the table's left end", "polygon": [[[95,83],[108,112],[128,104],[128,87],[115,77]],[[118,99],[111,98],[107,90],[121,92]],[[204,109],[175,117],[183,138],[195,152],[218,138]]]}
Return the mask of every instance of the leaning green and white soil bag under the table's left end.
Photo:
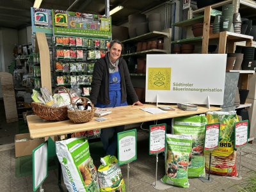
{"label": "leaning green and white soil bag under the table's left end", "polygon": [[57,141],[56,154],[68,191],[99,191],[97,170],[90,157],[86,139]]}

